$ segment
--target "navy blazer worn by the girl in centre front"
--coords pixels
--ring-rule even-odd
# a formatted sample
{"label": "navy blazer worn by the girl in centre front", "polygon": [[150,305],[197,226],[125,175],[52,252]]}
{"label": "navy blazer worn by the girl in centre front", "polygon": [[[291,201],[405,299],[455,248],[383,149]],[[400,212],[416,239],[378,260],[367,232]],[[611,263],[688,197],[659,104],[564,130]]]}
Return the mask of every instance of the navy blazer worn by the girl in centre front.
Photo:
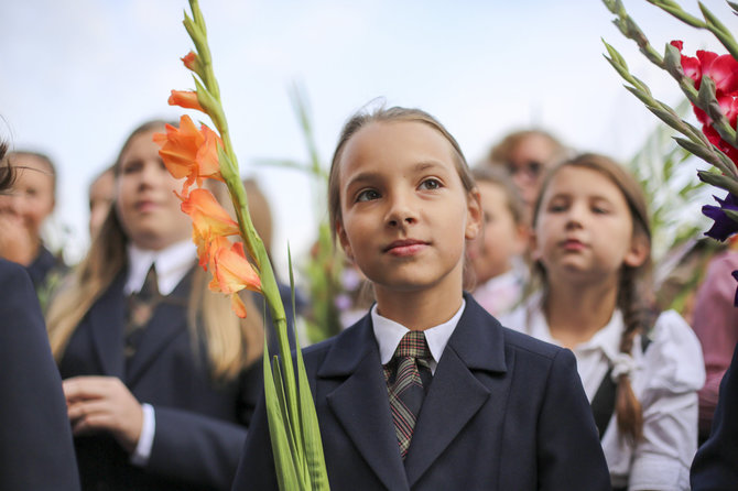
{"label": "navy blazer worn by the girl in centre front", "polygon": [[[609,490],[572,352],[465,298],[404,462],[371,317],[305,349],[332,489]],[[234,490],[276,489],[262,397]]]}

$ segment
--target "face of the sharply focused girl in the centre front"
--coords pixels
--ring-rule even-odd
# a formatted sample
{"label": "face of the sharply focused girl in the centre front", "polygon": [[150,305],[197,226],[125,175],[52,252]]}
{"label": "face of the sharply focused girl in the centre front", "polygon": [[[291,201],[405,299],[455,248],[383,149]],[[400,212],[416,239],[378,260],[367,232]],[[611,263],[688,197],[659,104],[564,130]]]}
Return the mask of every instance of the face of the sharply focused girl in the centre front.
{"label": "face of the sharply focused girl in the centre front", "polygon": [[344,250],[383,292],[460,291],[465,239],[480,226],[453,148],[421,122],[372,122],[339,162]]}

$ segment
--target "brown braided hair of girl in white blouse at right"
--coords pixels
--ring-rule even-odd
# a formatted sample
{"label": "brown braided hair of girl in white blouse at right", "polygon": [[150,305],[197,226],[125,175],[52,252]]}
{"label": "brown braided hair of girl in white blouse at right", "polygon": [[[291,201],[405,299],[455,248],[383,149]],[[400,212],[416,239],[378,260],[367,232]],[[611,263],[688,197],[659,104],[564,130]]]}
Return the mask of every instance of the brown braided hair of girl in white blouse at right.
{"label": "brown braided hair of girl in white blouse at right", "polygon": [[[611,159],[594,153],[578,155],[565,161],[552,168],[541,186],[541,193],[533,208],[533,227],[538,221],[539,212],[543,203],[545,189],[554,176],[564,167],[582,167],[596,171],[605,175],[615,184],[626,198],[628,209],[633,222],[633,237],[640,237],[651,249],[651,223],[649,219],[648,205],[642,188],[633,176],[625,167]],[[540,261],[534,264],[534,273],[540,276],[543,284],[543,295],[546,295],[545,270]],[[639,266],[632,268],[623,264],[618,283],[617,307],[622,313],[625,329],[620,338],[620,352],[630,354],[637,335],[647,336],[651,328],[654,312],[650,293],[651,254]],[[631,443],[639,441],[643,436],[643,412],[641,404],[633,393],[630,378],[627,374],[618,379],[615,414],[617,415],[618,429]]]}

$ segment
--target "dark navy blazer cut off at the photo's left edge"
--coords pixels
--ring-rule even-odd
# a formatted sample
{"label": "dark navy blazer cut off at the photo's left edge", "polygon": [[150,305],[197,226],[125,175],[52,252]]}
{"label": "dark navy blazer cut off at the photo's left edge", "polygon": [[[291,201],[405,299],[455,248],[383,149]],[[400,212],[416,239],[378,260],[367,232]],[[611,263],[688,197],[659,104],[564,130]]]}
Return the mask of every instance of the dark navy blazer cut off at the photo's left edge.
{"label": "dark navy blazer cut off at the photo's left edge", "polygon": [[0,260],[0,489],[79,490],[72,430],[39,299]]}

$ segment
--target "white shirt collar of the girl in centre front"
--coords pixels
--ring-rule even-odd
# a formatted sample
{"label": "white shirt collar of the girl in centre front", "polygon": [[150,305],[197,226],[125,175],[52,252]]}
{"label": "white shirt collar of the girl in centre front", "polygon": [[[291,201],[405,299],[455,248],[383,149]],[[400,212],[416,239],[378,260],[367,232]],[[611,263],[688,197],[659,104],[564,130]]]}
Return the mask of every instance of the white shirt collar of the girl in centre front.
{"label": "white shirt collar of the girl in centre front", "polygon": [[[443,350],[446,349],[448,339],[451,335],[454,334],[458,319],[464,313],[464,307],[466,307],[466,301],[462,298],[462,306],[454,314],[454,316],[446,320],[443,324],[433,326],[428,329],[425,329],[425,340],[428,343],[431,350],[431,356],[433,360],[431,361],[431,371],[435,373],[435,368],[441,360]],[[398,349],[398,345],[402,340],[402,337],[410,331],[402,324],[395,323],[394,320],[382,317],[377,313],[377,304],[371,307],[371,324],[375,329],[375,338],[377,338],[377,345],[379,345],[379,357],[382,361],[382,364],[387,364],[392,359],[394,351]]]}

